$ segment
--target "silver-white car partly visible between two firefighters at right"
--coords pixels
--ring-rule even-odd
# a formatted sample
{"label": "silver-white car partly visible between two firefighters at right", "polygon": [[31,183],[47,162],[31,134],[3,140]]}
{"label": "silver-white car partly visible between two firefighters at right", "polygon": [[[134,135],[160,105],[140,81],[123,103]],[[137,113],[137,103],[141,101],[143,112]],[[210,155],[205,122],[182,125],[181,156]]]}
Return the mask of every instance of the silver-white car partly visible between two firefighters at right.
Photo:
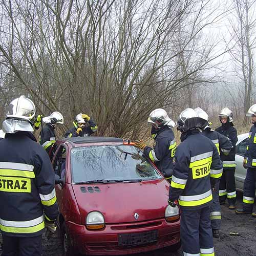
{"label": "silver-white car partly visible between two firefighters at right", "polygon": [[238,135],[238,142],[236,146],[236,171],[234,172],[234,178],[236,179],[237,190],[243,191],[244,180],[246,176],[246,170],[243,167],[244,153],[249,140],[249,133]]}

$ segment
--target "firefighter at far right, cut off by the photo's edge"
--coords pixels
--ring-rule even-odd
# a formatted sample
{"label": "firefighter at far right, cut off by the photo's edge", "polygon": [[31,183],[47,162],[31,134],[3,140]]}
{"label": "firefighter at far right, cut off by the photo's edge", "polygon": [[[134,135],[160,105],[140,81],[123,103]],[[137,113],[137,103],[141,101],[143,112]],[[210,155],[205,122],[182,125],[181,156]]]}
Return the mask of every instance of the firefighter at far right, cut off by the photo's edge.
{"label": "firefighter at far right, cut off by the photo's edge", "polygon": [[[249,132],[249,141],[244,155],[243,166],[247,168],[246,178],[244,180],[243,207],[237,209],[237,214],[252,214],[255,186],[256,186],[256,104],[252,105],[246,116],[251,118],[251,126]],[[256,214],[252,214],[256,217]]]}

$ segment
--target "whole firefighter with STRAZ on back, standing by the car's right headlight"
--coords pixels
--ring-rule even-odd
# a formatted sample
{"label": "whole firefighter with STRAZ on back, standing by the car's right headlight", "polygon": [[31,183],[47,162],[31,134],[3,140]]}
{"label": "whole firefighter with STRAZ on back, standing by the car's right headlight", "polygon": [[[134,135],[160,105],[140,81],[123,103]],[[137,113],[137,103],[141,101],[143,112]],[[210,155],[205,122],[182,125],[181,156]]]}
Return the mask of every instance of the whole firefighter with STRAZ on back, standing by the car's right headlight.
{"label": "whole firefighter with STRAZ on back, standing by the car's right headlight", "polygon": [[201,126],[202,119],[198,118],[195,110],[181,112],[177,122],[181,143],[175,154],[168,203],[175,207],[174,201],[179,200],[184,255],[214,256],[209,218],[211,188],[223,166],[215,144],[200,133]]}

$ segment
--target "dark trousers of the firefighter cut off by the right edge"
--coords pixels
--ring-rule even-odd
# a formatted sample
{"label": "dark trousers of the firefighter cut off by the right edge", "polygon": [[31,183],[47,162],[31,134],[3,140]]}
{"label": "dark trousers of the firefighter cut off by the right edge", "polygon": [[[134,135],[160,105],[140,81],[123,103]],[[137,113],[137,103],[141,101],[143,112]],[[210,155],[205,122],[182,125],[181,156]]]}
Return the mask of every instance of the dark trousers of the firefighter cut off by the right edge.
{"label": "dark trousers of the firefighter cut off by the right edge", "polygon": [[247,168],[244,180],[243,209],[252,212],[256,187],[256,168]]}

